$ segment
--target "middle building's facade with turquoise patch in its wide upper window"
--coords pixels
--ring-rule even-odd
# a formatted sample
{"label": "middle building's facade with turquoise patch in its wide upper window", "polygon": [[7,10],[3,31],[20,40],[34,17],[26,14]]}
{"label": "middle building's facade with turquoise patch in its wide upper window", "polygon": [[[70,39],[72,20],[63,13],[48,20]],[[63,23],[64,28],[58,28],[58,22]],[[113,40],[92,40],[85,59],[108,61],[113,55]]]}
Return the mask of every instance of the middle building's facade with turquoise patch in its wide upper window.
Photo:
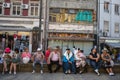
{"label": "middle building's facade with turquoise patch in its wide upper window", "polygon": [[89,54],[93,47],[96,0],[50,0],[48,44],[79,47]]}

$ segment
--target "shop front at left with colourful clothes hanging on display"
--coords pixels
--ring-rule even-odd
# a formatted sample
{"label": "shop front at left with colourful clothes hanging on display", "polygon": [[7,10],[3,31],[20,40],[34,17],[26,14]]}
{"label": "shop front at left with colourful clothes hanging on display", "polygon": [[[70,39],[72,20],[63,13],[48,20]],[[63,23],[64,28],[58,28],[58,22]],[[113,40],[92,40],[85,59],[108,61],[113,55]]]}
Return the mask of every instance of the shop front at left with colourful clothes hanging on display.
{"label": "shop front at left with colourful clothes hanging on display", "polygon": [[10,47],[12,50],[18,48],[20,52],[30,45],[30,30],[26,28],[1,28],[0,47],[4,50]]}

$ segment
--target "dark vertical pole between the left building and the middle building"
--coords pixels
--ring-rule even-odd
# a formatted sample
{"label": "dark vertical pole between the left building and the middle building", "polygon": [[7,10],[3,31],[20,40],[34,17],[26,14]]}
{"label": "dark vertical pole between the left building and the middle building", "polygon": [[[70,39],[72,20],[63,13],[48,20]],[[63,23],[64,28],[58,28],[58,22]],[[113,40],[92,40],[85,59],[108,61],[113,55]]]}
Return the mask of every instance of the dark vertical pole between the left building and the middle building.
{"label": "dark vertical pole between the left building and the middle building", "polygon": [[39,35],[38,35],[38,47],[41,47],[41,25],[42,25],[42,0],[40,2],[40,10],[39,10]]}

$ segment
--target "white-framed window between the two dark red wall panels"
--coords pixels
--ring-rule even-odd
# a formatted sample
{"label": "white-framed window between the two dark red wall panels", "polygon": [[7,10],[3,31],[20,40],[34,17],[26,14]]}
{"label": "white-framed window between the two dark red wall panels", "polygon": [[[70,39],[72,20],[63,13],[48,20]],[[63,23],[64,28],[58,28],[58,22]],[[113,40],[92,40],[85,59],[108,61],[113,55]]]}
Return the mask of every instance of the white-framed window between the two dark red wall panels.
{"label": "white-framed window between the two dark red wall panels", "polygon": [[21,2],[13,2],[12,15],[21,15]]}

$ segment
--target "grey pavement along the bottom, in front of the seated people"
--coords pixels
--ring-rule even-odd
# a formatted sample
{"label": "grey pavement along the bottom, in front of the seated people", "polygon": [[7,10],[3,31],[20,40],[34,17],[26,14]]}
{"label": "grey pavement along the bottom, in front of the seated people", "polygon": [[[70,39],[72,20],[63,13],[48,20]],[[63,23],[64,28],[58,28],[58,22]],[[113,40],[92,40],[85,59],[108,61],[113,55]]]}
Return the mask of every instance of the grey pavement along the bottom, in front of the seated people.
{"label": "grey pavement along the bottom, in front of the seated people", "polygon": [[83,74],[64,74],[64,73],[30,73],[30,72],[18,72],[13,74],[0,74],[0,80],[120,80],[120,73],[115,76],[109,76],[106,73],[101,73],[100,76],[95,73],[83,73]]}

